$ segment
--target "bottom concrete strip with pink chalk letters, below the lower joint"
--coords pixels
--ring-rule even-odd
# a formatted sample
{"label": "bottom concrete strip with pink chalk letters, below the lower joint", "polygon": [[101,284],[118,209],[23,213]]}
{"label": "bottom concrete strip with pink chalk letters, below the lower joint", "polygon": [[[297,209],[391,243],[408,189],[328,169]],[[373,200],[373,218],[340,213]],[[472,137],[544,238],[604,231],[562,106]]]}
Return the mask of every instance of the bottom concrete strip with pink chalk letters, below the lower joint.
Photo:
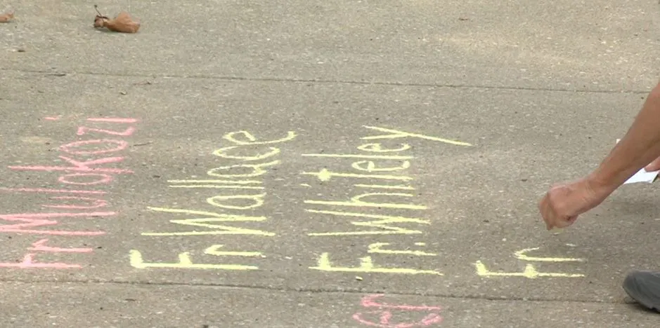
{"label": "bottom concrete strip with pink chalk letters, below the lower joint", "polygon": [[631,304],[180,285],[13,283],[3,284],[0,295],[9,313],[5,322],[30,327],[602,328],[653,327],[657,321]]}

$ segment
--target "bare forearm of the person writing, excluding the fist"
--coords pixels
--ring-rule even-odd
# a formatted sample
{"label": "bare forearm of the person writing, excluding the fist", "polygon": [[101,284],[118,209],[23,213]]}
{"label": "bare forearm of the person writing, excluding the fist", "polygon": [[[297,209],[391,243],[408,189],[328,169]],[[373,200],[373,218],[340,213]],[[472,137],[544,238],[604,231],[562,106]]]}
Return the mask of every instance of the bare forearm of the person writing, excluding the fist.
{"label": "bare forearm of the person writing, excluding the fist", "polygon": [[626,135],[589,177],[609,194],[659,156],[660,83],[649,93]]}

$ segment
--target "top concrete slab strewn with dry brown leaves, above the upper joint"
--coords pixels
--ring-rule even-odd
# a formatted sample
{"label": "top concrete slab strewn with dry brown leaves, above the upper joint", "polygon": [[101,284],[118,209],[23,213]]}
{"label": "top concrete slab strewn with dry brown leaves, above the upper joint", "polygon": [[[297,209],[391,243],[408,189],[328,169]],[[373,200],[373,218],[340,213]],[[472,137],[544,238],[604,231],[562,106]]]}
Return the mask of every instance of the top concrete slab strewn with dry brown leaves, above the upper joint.
{"label": "top concrete slab strewn with dry brown leaves, above the upper joint", "polygon": [[[648,90],[656,1],[19,1],[0,67],[131,76]],[[24,53],[15,52],[17,49]]]}

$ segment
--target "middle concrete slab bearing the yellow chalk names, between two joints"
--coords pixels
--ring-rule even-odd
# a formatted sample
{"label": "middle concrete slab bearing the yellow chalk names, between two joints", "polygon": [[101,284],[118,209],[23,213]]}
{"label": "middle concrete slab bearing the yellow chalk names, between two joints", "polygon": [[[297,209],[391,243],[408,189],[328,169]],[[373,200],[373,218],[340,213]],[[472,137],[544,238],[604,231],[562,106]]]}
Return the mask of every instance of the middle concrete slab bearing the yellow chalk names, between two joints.
{"label": "middle concrete slab bearing the yellow chalk names, between two joints", "polygon": [[[76,250],[38,261],[82,267],[31,279],[618,301],[622,275],[654,260],[653,245],[625,236],[651,240],[655,217],[617,206],[650,201],[638,185],[563,235],[544,231],[536,212],[551,181],[590,170],[625,132],[638,95],[11,79],[30,88],[4,101],[4,218],[46,221],[5,228],[14,247],[4,259],[48,239]],[[28,99],[39,107],[21,110]],[[99,138],[111,141],[89,141]],[[259,140],[271,143],[249,144]],[[51,212],[72,214],[39,214]],[[193,264],[176,264],[184,252]]]}

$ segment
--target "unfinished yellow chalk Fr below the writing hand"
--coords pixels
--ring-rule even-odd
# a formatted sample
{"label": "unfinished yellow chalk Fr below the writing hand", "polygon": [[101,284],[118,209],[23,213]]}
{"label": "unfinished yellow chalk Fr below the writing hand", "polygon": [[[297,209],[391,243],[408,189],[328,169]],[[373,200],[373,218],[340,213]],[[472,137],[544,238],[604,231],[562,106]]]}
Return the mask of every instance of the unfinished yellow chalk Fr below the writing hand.
{"label": "unfinished yellow chalk Fr below the writing hand", "polygon": [[[534,250],[539,250],[540,247],[526,248],[524,250],[519,250],[514,253],[514,256],[522,261],[536,261],[536,262],[581,262],[583,259],[575,259],[570,257],[529,257],[526,255],[527,252]],[[522,272],[500,272],[500,271],[491,271],[486,268],[486,265],[482,261],[476,261],[474,267],[477,269],[477,275],[481,277],[524,277],[529,279],[536,279],[542,277],[550,278],[582,278],[584,277],[581,273],[562,273],[562,272],[539,272],[533,264],[526,264],[524,271]]]}

